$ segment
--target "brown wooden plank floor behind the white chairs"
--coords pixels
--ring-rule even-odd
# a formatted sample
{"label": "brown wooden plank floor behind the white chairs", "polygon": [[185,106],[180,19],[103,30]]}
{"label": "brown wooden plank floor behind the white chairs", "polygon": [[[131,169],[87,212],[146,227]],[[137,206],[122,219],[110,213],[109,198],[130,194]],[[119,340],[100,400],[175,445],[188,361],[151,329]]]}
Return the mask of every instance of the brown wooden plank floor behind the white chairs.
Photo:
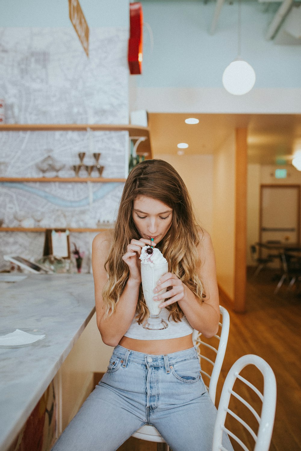
{"label": "brown wooden plank floor behind the white chairs", "polygon": [[[277,285],[277,280],[275,278],[273,280],[273,277],[275,275],[269,271],[262,271],[256,279],[248,277],[246,313],[229,311],[230,334],[218,382],[217,403],[227,372],[236,359],[244,354],[259,355],[273,368],[277,380],[277,408],[270,451],[299,451],[301,450],[301,296],[296,293],[287,295],[286,287],[282,287],[277,296],[273,295]],[[226,305],[225,307],[227,308]],[[253,368],[254,377],[259,380],[261,374],[256,375],[256,368]],[[237,423],[235,428],[237,435],[243,433],[242,427]],[[241,450],[237,444],[234,447],[235,450]],[[119,450],[155,451],[157,446],[152,442],[130,438]]]}

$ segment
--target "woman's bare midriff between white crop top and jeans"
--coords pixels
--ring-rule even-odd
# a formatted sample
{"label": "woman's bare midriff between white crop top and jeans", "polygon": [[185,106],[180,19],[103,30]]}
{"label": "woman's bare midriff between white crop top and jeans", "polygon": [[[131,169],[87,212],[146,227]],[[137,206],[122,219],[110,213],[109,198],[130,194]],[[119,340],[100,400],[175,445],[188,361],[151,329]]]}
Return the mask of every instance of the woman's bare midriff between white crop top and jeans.
{"label": "woman's bare midriff between white crop top and jeans", "polygon": [[136,340],[135,338],[123,336],[119,345],[132,351],[143,352],[144,354],[160,355],[190,349],[193,347],[193,342],[192,334],[167,340]]}

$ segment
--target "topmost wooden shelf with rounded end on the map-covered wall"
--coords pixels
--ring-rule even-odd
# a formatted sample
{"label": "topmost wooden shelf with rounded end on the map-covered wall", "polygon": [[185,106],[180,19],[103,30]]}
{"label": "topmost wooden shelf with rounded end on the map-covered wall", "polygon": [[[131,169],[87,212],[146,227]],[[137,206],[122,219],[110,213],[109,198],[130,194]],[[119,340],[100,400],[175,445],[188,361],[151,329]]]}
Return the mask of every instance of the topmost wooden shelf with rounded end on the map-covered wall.
{"label": "topmost wooden shelf with rounded end on the map-covered wall", "polygon": [[0,131],[25,132],[25,131],[94,131],[106,132],[129,132],[130,137],[145,136],[147,139],[139,144],[137,154],[146,155],[146,158],[152,158],[151,144],[148,127],[131,124],[1,124]]}

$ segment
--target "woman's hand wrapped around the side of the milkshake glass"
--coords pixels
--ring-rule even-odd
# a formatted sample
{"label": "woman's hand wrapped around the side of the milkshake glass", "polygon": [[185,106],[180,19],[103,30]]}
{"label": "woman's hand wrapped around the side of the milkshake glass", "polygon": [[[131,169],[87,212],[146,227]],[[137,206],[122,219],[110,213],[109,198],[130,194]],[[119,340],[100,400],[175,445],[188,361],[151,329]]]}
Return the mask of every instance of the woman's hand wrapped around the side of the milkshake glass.
{"label": "woman's hand wrapped around the side of the milkshake glass", "polygon": [[[156,293],[159,293],[164,288],[167,288],[166,293],[156,295]],[[159,302],[160,308],[167,307],[167,305],[179,302],[181,301],[181,299],[184,299],[186,290],[186,285],[184,285],[183,282],[175,274],[167,272],[166,274],[164,274],[164,276],[160,277],[159,281],[157,281],[157,286],[153,290],[153,300]],[[165,299],[167,298],[169,299],[165,301]]]}

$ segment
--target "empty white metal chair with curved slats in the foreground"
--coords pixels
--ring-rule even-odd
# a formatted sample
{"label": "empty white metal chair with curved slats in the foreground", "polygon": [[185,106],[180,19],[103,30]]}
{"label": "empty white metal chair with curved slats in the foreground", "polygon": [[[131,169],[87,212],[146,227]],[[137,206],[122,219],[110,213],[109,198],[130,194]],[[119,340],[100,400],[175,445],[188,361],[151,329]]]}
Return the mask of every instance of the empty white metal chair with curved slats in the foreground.
{"label": "empty white metal chair with curved slats in the foreground", "polygon": [[[258,368],[259,371],[262,373],[264,377],[263,394],[249,380],[245,379],[239,374],[241,370],[245,368],[247,365],[255,365],[255,367]],[[250,399],[254,399],[254,392],[259,397],[259,400],[262,402],[260,416],[254,409],[254,407],[252,407],[252,405],[250,405],[244,398],[242,398],[235,391],[233,391],[233,385],[236,382],[236,379],[241,380],[247,387],[252,389],[250,393]],[[257,433],[255,433],[254,430],[250,428],[249,424],[247,424],[243,419],[241,419],[238,412],[235,413],[229,409],[229,402],[232,396],[234,396],[248,408],[247,412],[249,412],[250,410],[250,412],[254,415],[255,419],[259,424]],[[238,403],[238,405],[239,404],[240,403]],[[212,451],[221,451],[221,450],[227,451],[227,449],[222,446],[223,431],[225,431],[229,437],[232,437],[236,442],[238,442],[244,451],[250,451],[249,448],[245,446],[245,443],[243,443],[234,433],[232,433],[229,429],[225,427],[225,419],[227,414],[232,415],[232,417],[234,417],[237,421],[239,421],[247,429],[247,431],[249,431],[250,435],[255,440],[255,447],[253,448],[253,451],[269,451],[269,446],[273,432],[275,409],[276,409],[276,379],[272,368],[269,366],[269,364],[267,364],[267,362],[265,362],[264,359],[262,359],[258,355],[248,354],[242,356],[230,368],[230,371],[227,374],[224,385],[222,387],[222,394],[218,405],[218,415],[216,418],[213,433]],[[249,418],[250,416],[248,415],[248,419]]]}

